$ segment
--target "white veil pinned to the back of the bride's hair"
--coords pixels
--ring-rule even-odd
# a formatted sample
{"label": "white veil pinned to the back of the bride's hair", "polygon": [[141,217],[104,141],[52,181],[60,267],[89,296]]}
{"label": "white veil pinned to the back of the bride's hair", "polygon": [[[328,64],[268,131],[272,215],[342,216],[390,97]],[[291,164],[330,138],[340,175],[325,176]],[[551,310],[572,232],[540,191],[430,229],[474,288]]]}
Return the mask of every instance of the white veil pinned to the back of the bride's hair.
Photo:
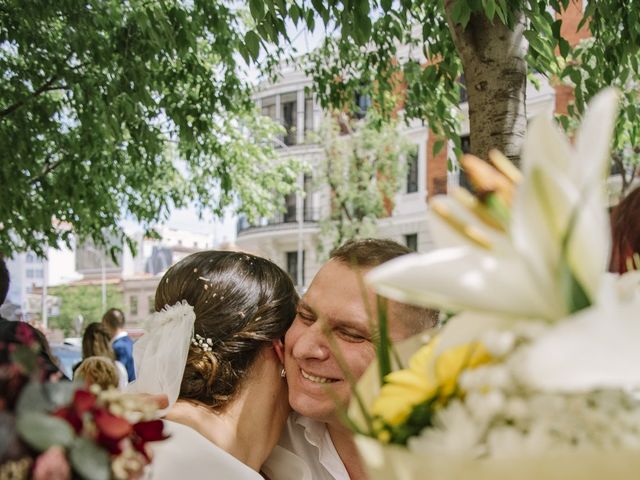
{"label": "white veil pinned to the back of the bride's hair", "polygon": [[136,380],[127,391],[167,395],[169,406],[160,416],[178,399],[195,320],[193,307],[186,301],[166,306],[149,317],[146,333],[133,345]]}

